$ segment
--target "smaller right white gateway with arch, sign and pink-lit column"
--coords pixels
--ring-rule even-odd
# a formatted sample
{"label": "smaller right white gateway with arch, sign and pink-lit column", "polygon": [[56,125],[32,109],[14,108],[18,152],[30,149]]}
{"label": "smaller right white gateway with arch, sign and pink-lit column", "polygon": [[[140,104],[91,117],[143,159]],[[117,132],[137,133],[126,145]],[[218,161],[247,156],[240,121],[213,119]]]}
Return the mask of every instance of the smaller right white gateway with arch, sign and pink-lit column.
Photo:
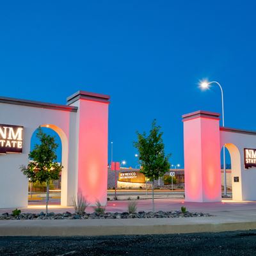
{"label": "smaller right white gateway with arch, sign and pink-lit column", "polygon": [[183,115],[185,200],[221,201],[223,145],[230,152],[233,200],[256,200],[256,132],[220,127],[220,114]]}

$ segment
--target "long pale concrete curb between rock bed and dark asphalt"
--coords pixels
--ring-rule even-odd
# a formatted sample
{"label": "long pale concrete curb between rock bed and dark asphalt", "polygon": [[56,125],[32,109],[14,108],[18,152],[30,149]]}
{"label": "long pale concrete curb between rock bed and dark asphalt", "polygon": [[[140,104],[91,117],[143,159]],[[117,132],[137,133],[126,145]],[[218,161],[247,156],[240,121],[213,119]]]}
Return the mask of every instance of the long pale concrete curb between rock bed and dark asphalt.
{"label": "long pale concrete curb between rock bed and dark asphalt", "polygon": [[228,222],[211,217],[180,219],[181,218],[178,220],[7,220],[0,221],[0,236],[184,234],[256,229],[256,221]]}

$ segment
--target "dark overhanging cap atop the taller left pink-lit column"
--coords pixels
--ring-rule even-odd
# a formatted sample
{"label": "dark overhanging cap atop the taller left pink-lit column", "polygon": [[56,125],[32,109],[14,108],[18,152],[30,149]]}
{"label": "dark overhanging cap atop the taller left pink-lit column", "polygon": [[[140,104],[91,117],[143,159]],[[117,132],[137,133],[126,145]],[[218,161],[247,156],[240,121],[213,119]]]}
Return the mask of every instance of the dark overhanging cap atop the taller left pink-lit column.
{"label": "dark overhanging cap atop the taller left pink-lit column", "polygon": [[109,103],[110,96],[93,92],[78,91],[67,97],[67,104],[70,105],[80,99]]}

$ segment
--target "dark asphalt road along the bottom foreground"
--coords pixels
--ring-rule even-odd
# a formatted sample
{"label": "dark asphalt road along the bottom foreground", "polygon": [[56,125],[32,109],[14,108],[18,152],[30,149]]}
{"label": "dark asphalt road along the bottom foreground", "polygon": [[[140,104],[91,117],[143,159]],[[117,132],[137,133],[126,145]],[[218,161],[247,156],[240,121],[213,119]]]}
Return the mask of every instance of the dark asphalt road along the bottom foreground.
{"label": "dark asphalt road along the bottom foreground", "polygon": [[256,230],[102,237],[0,237],[0,255],[256,255]]}

